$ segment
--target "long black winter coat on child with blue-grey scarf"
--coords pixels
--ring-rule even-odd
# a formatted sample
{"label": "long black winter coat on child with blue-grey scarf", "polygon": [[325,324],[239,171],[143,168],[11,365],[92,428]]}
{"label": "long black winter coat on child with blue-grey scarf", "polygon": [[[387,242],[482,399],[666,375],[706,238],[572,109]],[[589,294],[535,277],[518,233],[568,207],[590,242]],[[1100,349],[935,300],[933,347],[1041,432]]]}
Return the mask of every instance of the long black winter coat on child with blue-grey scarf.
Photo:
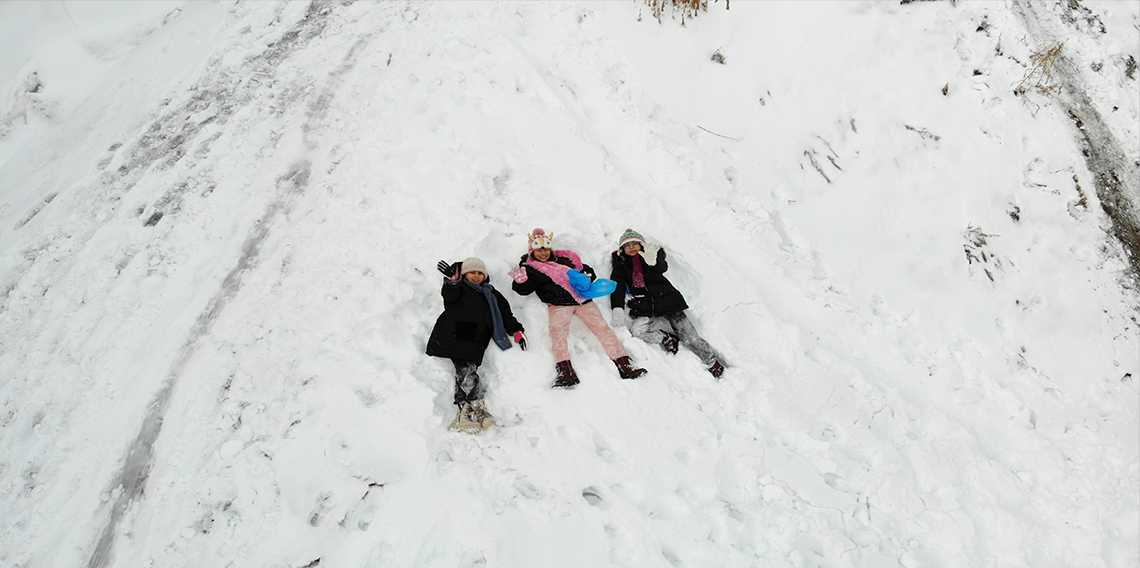
{"label": "long black winter coat on child with blue-grey scarf", "polygon": [[[483,281],[484,284],[488,282],[489,277]],[[481,365],[495,326],[487,298],[463,282],[445,283],[440,293],[443,295],[443,313],[435,319],[431,338],[427,339],[427,355],[473,360],[475,365]],[[511,313],[511,305],[506,298],[503,298],[498,290],[494,293],[499,313],[503,314],[503,327],[507,335],[522,331],[522,325]]]}

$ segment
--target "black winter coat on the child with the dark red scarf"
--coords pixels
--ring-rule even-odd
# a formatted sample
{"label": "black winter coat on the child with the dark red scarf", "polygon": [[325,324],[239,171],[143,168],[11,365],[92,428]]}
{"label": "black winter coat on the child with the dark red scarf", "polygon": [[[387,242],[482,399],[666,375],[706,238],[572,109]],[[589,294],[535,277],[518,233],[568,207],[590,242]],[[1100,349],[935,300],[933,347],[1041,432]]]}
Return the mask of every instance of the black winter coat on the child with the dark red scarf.
{"label": "black winter coat on the child with the dark red scarf", "polygon": [[642,260],[642,277],[645,287],[634,287],[634,260],[628,254],[617,251],[610,255],[613,271],[610,279],[618,283],[618,289],[610,294],[610,307],[626,306],[626,293],[629,298],[629,317],[669,316],[689,308],[685,298],[673,287],[665,271],[669,263],[665,260],[665,249],[657,251],[657,263],[650,266]]}

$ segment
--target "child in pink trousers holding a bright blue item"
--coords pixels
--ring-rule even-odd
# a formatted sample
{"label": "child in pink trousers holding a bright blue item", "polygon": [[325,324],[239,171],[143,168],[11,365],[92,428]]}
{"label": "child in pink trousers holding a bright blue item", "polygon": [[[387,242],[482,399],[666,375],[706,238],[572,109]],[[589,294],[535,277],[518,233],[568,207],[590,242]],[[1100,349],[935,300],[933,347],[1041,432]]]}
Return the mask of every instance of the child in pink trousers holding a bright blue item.
{"label": "child in pink trousers holding a bright blue item", "polygon": [[[595,289],[592,285],[596,279],[594,269],[584,265],[573,251],[553,250],[554,235],[547,235],[543,229],[535,229],[528,237],[530,252],[523,254],[519,267],[511,270],[514,279],[511,287],[522,295],[537,292],[538,299],[547,305],[551,315],[551,349],[554,351],[557,371],[554,387],[573,387],[579,382],[578,374],[570,365],[570,349],[567,344],[573,316],[578,316],[602,342],[605,355],[617,365],[622,379],[637,379],[645,374],[644,368],[635,368],[629,362],[629,356],[605,323],[602,311],[588,298]],[[587,278],[588,282],[581,282]]]}

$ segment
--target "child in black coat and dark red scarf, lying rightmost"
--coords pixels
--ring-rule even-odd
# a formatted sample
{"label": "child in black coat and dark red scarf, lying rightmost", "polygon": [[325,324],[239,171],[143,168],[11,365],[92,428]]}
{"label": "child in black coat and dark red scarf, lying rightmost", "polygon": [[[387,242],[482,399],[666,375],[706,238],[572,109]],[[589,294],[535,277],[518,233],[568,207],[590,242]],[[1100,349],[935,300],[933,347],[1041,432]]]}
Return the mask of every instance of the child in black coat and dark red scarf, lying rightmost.
{"label": "child in black coat and dark red scarf, lying rightmost", "polygon": [[646,343],[660,344],[670,355],[677,354],[678,343],[687,347],[708,365],[709,373],[719,379],[724,373],[724,358],[697,334],[693,323],[685,317],[689,305],[665,277],[665,271],[669,269],[665,249],[646,244],[645,238],[634,229],[626,229],[610,261],[613,265],[610,279],[618,283],[618,289],[610,295],[612,322],[617,325],[626,320],[622,308],[628,294],[629,316],[633,318],[629,333]]}

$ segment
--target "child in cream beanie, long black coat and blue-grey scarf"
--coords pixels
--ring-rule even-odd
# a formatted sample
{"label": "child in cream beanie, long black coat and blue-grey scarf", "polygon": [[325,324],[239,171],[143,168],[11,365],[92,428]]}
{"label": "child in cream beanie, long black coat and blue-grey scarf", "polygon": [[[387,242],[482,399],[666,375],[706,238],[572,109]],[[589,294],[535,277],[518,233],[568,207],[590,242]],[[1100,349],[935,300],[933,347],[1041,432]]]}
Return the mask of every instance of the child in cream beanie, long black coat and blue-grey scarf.
{"label": "child in cream beanie, long black coat and blue-grey scarf", "polygon": [[513,334],[526,350],[527,336],[511,314],[511,305],[491,287],[482,260],[469,258],[451,265],[440,260],[437,268],[445,276],[440,291],[443,313],[431,331],[427,355],[449,358],[455,365],[455,405],[459,412],[448,428],[479,433],[495,423],[483,404],[483,384],[479,380],[487,343],[494,339],[505,351],[511,348],[507,334]]}

